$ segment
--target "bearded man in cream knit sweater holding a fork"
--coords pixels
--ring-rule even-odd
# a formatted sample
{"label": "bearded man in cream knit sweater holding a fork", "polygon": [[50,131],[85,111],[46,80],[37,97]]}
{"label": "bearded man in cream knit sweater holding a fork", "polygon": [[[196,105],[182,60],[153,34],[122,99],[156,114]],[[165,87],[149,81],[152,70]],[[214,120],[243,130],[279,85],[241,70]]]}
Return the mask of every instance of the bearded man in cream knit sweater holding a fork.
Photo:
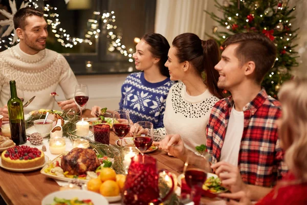
{"label": "bearded man in cream knit sweater holding a fork", "polygon": [[16,81],[17,89],[24,90],[25,100],[36,96],[24,109],[25,113],[53,109],[54,98],[50,94],[58,85],[68,99],[59,102],[59,107],[77,110],[74,100],[77,79],[61,54],[46,49],[48,31],[43,13],[26,7],[18,10],[13,20],[20,43],[0,53],[0,114],[4,120],[8,120],[10,80]]}

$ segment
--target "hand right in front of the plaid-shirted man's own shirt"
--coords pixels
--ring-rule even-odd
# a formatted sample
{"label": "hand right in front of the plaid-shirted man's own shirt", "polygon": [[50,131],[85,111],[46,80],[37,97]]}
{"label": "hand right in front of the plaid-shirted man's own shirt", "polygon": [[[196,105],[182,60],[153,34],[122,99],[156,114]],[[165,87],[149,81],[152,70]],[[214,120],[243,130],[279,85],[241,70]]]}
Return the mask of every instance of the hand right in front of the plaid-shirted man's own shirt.
{"label": "hand right in front of the plaid-shirted man's own shirt", "polygon": [[230,163],[225,161],[219,161],[214,163],[211,168],[220,177],[223,186],[228,188],[232,193],[243,191],[247,188],[236,166],[230,165]]}

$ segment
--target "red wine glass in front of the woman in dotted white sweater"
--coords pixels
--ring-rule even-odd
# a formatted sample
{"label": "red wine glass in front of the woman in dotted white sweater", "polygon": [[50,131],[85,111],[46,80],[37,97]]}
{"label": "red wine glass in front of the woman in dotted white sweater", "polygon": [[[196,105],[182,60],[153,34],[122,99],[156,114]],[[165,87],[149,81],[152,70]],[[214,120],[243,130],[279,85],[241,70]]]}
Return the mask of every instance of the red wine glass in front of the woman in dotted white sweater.
{"label": "red wine glass in front of the woman in dotted white sweater", "polygon": [[134,143],[136,148],[144,155],[153,141],[153,125],[148,121],[138,121],[135,124]]}

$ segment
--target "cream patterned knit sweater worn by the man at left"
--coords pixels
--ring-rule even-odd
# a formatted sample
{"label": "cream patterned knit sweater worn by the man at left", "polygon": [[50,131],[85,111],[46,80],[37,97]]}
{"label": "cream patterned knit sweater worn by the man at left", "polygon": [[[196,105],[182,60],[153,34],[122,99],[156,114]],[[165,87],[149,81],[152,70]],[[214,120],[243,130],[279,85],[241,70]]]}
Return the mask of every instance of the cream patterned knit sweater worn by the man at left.
{"label": "cream patterned knit sweater worn by the man at left", "polygon": [[44,49],[35,55],[20,50],[19,44],[0,53],[0,107],[7,105],[10,98],[10,80],[17,88],[24,89],[25,101],[34,95],[25,113],[37,109],[52,109],[54,99],[50,93],[59,85],[65,98],[74,97],[77,79],[63,55]]}

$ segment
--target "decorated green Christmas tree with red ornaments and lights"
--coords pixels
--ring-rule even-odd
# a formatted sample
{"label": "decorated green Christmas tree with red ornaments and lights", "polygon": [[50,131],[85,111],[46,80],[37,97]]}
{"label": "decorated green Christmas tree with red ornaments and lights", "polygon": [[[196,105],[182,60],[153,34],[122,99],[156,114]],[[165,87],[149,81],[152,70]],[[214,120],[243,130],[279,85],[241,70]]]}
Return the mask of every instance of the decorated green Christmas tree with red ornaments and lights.
{"label": "decorated green Christmas tree with red ornaments and lights", "polygon": [[276,61],[262,81],[262,86],[269,95],[276,98],[282,82],[291,78],[291,68],[298,65],[297,52],[294,51],[297,45],[293,45],[298,29],[291,26],[291,20],[295,19],[292,15],[295,7],[289,8],[289,0],[225,0],[223,4],[214,1],[215,7],[223,12],[223,17],[205,12],[224,27],[213,26],[215,36],[209,35],[219,44],[229,35],[240,32],[262,33],[275,44]]}

